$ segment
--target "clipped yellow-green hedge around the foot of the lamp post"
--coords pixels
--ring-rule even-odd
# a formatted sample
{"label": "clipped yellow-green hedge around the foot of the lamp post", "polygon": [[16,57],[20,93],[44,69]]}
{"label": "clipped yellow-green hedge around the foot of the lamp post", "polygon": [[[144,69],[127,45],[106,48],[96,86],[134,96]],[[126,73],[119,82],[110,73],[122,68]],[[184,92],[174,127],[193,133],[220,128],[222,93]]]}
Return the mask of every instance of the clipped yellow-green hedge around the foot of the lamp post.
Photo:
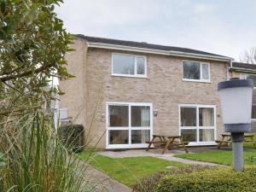
{"label": "clipped yellow-green hedge around the foot of the lamp post", "polygon": [[200,172],[168,176],[161,179],[155,192],[253,192],[256,191],[256,167],[234,172],[222,167]]}

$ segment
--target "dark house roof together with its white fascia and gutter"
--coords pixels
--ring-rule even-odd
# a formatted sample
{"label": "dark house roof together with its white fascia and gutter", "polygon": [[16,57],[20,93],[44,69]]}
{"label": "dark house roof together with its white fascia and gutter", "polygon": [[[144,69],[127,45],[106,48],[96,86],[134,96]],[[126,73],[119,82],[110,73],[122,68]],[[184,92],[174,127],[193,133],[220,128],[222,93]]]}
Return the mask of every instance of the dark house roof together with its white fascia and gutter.
{"label": "dark house roof together with its white fascia and gutter", "polygon": [[188,49],[182,47],[165,46],[160,44],[148,44],[145,42],[125,41],[112,38],[96,38],[84,36],[81,34],[75,35],[77,38],[83,38],[89,47],[103,49],[124,49],[133,50],[145,53],[154,53],[160,55],[182,55],[196,58],[207,58],[218,61],[230,61],[232,58],[224,55],[217,55],[196,49]]}

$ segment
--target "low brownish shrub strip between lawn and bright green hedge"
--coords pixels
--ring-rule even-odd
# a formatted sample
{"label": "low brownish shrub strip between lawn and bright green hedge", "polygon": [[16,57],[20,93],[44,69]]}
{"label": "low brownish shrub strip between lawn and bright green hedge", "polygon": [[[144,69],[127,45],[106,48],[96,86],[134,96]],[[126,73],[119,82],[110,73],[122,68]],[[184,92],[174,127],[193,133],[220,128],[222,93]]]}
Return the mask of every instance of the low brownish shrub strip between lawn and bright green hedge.
{"label": "low brownish shrub strip between lawn and bright green hedge", "polygon": [[160,182],[160,179],[163,177],[177,175],[181,173],[202,171],[210,168],[211,168],[210,166],[193,165],[193,166],[185,166],[181,168],[173,168],[168,172],[155,172],[149,175],[148,177],[141,178],[136,184],[133,185],[132,189],[133,191],[136,191],[136,192],[153,192],[154,187],[157,185],[157,183]]}

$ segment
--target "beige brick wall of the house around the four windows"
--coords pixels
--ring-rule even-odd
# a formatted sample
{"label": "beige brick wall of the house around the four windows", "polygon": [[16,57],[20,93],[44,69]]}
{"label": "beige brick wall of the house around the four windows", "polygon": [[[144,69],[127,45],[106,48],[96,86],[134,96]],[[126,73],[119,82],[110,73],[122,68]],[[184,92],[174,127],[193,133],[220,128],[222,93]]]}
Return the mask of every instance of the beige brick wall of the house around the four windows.
{"label": "beige brick wall of the house around the four windows", "polygon": [[[216,105],[217,135],[223,131],[217,84],[226,80],[224,63],[208,61],[211,67],[211,83],[185,82],[182,67],[184,58],[136,53],[147,56],[148,78],[113,77],[112,53],[122,51],[88,49],[85,64],[83,56],[80,56],[81,52],[85,51],[82,49],[83,45],[77,43],[75,46],[80,53],[73,53],[67,58],[69,68],[73,70],[77,79],[61,83],[61,87],[64,86],[67,90],[67,95],[61,97],[65,98],[61,100],[61,106],[67,106],[69,115],[73,116],[79,108],[84,108],[83,103],[87,103],[84,114],[79,116],[79,122],[86,120],[85,135],[92,139],[90,144],[97,143],[102,137],[97,146],[105,148],[106,117],[102,117],[106,113],[106,102],[152,102],[153,108],[158,109],[158,116],[153,119],[154,133],[168,135],[178,134],[179,104]],[[82,61],[83,63],[80,63]],[[83,75],[85,66],[86,75]],[[86,83],[83,83],[84,77]],[[77,84],[76,88],[74,84]],[[86,96],[83,96],[84,89],[87,90]],[[72,97],[73,90],[76,92],[75,98]]]}

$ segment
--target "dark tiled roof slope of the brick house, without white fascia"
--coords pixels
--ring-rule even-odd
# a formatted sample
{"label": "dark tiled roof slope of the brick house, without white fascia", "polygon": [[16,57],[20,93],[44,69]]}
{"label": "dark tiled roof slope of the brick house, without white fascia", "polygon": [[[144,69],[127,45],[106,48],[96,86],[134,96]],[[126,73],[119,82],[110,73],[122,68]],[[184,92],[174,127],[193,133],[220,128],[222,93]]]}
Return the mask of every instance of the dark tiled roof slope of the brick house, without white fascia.
{"label": "dark tiled roof slope of the brick house, without white fascia", "polygon": [[78,38],[83,38],[89,44],[111,44],[111,45],[119,45],[119,46],[139,48],[139,49],[154,49],[154,50],[161,50],[161,51],[170,51],[170,52],[172,51],[172,52],[183,53],[183,54],[208,55],[212,57],[220,57],[227,60],[231,59],[228,56],[217,55],[217,54],[208,53],[208,52],[196,50],[196,49],[165,46],[160,44],[148,44],[145,42],[125,41],[125,40],[118,40],[118,39],[112,39],[112,38],[96,38],[96,37],[84,36],[81,34],[78,34],[75,36]]}

